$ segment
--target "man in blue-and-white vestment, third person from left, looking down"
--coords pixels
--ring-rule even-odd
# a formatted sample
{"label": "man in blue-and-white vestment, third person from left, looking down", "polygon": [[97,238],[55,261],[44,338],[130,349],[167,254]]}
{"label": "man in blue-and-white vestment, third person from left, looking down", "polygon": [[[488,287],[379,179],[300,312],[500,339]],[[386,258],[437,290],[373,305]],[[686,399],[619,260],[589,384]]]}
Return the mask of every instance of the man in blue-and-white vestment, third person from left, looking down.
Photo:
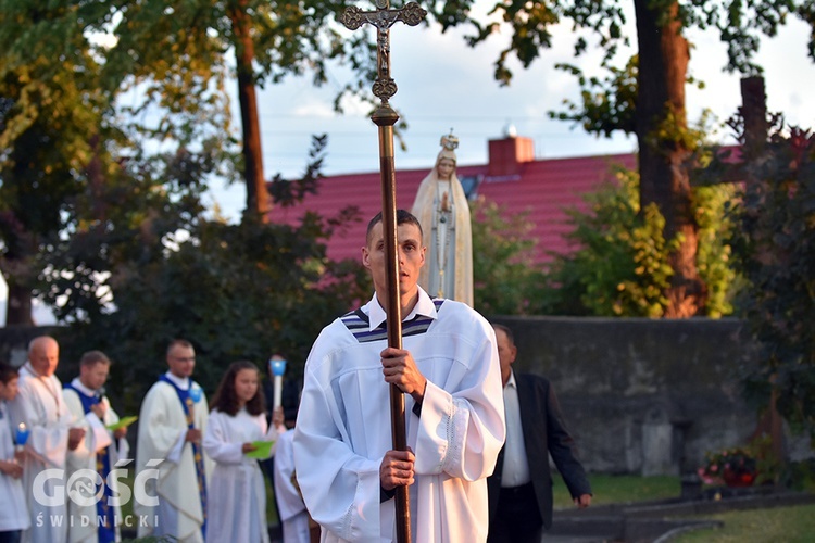
{"label": "man in blue-and-white vestment, third person from left, looking down", "polygon": [[[126,427],[115,431],[108,429],[118,422],[118,415],[104,395],[104,383],[110,369],[111,361],[103,352],[88,351],[79,359],[79,376],[62,390],[65,404],[86,429],[85,439],[79,446],[68,452],[66,478],[70,479],[78,470],[89,469],[97,471],[105,481],[103,494],[96,504],[68,501],[70,542],[106,543],[121,539],[116,521],[121,522],[122,512],[118,506],[110,503],[112,496],[121,495],[120,488],[117,479],[111,480],[109,475],[120,458],[127,458],[130,447],[124,439]],[[67,491],[78,491],[79,485]],[[91,493],[96,491],[93,489]],[[87,493],[82,495],[88,497]]]}

